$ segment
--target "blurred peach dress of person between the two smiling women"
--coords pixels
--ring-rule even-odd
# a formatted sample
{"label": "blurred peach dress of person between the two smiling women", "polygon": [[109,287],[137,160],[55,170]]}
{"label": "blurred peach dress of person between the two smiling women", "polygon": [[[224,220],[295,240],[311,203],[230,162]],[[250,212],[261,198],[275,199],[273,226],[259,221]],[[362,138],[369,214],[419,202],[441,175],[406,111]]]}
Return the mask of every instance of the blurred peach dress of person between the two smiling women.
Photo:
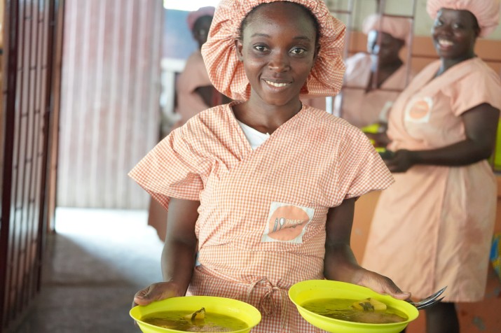
{"label": "blurred peach dress of person between the two smiling women", "polygon": [[[393,102],[407,84],[407,67],[402,65],[383,82],[380,89],[365,92],[371,80],[371,66],[371,56],[363,52],[346,59],[341,117],[360,128],[386,118]],[[412,77],[413,73],[409,82]],[[338,95],[335,101],[337,108],[339,104],[341,95]]]}

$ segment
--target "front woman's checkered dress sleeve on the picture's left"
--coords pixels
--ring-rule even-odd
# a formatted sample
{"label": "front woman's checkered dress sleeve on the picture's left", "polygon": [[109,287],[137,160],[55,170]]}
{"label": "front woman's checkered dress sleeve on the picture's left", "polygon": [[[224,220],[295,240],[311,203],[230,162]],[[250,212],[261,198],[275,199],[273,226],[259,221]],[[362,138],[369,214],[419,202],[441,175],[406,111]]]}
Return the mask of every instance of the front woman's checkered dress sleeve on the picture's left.
{"label": "front woman's checkered dress sleeve on the picture's left", "polygon": [[129,172],[129,176],[168,209],[170,197],[200,200],[204,161],[189,143],[185,127],[174,130]]}

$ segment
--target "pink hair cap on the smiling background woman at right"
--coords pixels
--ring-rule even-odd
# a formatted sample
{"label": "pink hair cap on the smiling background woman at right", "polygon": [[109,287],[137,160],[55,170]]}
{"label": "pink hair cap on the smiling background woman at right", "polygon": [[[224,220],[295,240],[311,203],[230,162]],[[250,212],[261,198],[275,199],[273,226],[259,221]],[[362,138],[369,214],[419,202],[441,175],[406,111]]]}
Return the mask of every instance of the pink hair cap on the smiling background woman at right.
{"label": "pink hair cap on the smiling background woman at right", "polygon": [[433,20],[441,8],[470,11],[479,22],[481,37],[496,29],[500,20],[499,0],[428,0],[426,3],[426,10]]}

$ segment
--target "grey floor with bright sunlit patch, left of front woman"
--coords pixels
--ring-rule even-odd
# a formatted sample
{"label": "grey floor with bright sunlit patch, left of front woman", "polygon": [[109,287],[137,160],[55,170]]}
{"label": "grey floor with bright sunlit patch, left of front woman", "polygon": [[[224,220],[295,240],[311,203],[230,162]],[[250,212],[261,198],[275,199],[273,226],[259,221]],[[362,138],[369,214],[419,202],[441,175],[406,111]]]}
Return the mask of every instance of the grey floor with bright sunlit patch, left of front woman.
{"label": "grey floor with bright sunlit patch, left of front woman", "polygon": [[161,281],[162,242],[146,211],[58,208],[43,289],[15,333],[140,332],[132,297]]}

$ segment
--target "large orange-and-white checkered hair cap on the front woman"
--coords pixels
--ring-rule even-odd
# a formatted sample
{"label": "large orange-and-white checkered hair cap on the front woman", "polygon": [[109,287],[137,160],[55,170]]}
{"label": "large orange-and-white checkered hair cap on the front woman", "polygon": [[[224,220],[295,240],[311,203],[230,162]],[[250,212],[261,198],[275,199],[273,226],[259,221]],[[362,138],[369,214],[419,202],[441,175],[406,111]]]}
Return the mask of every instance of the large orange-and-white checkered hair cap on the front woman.
{"label": "large orange-and-white checkered hair cap on the front woman", "polygon": [[[247,100],[251,87],[235,50],[240,24],[261,3],[284,0],[222,0],[216,9],[202,55],[214,87],[231,99]],[[331,15],[323,0],[285,0],[308,8],[320,25],[320,51],[301,94],[334,96],[341,89],[345,65],[345,25]]]}

